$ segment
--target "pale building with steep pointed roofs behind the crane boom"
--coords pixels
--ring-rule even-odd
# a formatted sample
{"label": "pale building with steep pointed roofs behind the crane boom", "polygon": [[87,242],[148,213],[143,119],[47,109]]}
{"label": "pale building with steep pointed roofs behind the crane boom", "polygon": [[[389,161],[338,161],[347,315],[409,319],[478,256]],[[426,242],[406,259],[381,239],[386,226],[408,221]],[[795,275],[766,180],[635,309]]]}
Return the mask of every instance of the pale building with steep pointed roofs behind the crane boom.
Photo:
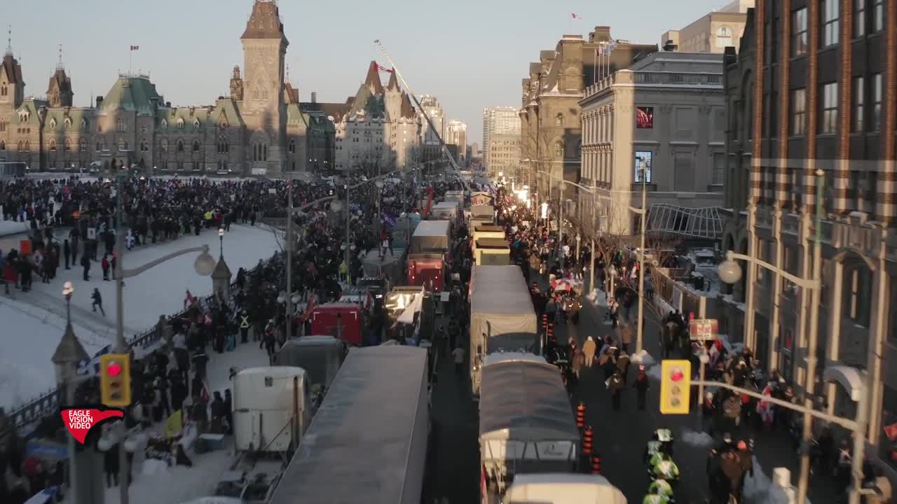
{"label": "pale building with steep pointed roofs behind the crane boom", "polygon": [[[383,87],[380,67],[371,61],[364,83],[342,109],[335,109],[336,169],[372,175],[402,169],[419,161],[422,119],[396,73]],[[425,120],[425,119],[424,119]]]}

